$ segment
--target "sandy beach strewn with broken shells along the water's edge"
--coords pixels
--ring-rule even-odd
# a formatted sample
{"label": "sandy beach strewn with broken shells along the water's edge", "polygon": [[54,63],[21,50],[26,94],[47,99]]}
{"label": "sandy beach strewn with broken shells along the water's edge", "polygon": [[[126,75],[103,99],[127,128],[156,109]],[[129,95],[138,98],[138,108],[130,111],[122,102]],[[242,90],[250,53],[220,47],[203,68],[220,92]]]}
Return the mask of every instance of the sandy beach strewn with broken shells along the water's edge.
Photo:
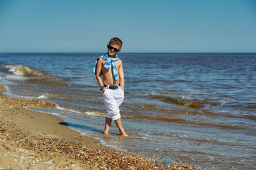
{"label": "sandy beach strewn with broken shells along the water's edge", "polygon": [[[0,93],[6,91],[0,84]],[[105,147],[68,128],[63,120],[23,107],[54,103],[0,95],[0,169],[196,169],[156,166],[155,159]]]}

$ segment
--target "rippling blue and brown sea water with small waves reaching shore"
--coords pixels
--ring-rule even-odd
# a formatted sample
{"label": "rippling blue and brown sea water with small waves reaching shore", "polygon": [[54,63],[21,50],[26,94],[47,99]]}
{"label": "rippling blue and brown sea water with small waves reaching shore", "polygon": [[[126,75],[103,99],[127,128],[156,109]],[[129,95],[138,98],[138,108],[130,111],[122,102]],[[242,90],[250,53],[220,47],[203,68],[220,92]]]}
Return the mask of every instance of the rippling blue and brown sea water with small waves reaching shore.
{"label": "rippling blue and brown sea water with small waves reaching shore", "polygon": [[[104,137],[104,103],[92,75],[104,53],[1,53],[6,96],[57,108],[30,108],[103,145],[206,169],[256,166],[256,54],[120,53],[123,127]],[[63,124],[64,125],[64,124]]]}

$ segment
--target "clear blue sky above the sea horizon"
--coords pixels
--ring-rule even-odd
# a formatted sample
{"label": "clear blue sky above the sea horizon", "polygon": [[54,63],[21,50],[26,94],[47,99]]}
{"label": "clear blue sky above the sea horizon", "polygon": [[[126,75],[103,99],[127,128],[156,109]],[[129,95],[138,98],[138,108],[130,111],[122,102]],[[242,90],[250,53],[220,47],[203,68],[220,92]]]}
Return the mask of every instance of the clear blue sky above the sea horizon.
{"label": "clear blue sky above the sea horizon", "polygon": [[256,0],[0,0],[0,52],[256,52]]}

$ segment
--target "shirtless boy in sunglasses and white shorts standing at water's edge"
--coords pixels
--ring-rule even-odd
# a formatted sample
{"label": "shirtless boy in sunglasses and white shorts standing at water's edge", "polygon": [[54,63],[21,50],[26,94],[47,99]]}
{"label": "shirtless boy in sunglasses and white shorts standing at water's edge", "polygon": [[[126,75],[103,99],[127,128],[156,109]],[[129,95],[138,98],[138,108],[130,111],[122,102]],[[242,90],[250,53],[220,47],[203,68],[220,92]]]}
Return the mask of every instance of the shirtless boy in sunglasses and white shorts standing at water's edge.
{"label": "shirtless boy in sunglasses and white shorts standing at water's edge", "polygon": [[[119,38],[112,38],[108,42],[108,52],[96,60],[94,74],[96,74],[106,106],[104,135],[109,135],[108,130],[113,120],[121,132],[121,136],[128,137],[121,124],[119,113],[119,106],[124,98],[124,75],[123,63],[116,54],[121,51],[122,45],[123,42]],[[103,79],[101,79],[101,74]]]}

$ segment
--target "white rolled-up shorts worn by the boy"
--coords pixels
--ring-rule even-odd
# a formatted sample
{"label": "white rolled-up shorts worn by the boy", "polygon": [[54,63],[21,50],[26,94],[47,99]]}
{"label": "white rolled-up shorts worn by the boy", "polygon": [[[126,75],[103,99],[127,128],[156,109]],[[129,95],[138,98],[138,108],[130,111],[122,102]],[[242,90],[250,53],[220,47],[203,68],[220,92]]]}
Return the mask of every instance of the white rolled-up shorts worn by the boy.
{"label": "white rolled-up shorts worn by the boy", "polygon": [[111,118],[112,120],[120,119],[119,106],[121,106],[121,103],[123,102],[124,91],[120,86],[115,90],[106,87],[106,91],[102,95],[106,107],[106,118]]}

